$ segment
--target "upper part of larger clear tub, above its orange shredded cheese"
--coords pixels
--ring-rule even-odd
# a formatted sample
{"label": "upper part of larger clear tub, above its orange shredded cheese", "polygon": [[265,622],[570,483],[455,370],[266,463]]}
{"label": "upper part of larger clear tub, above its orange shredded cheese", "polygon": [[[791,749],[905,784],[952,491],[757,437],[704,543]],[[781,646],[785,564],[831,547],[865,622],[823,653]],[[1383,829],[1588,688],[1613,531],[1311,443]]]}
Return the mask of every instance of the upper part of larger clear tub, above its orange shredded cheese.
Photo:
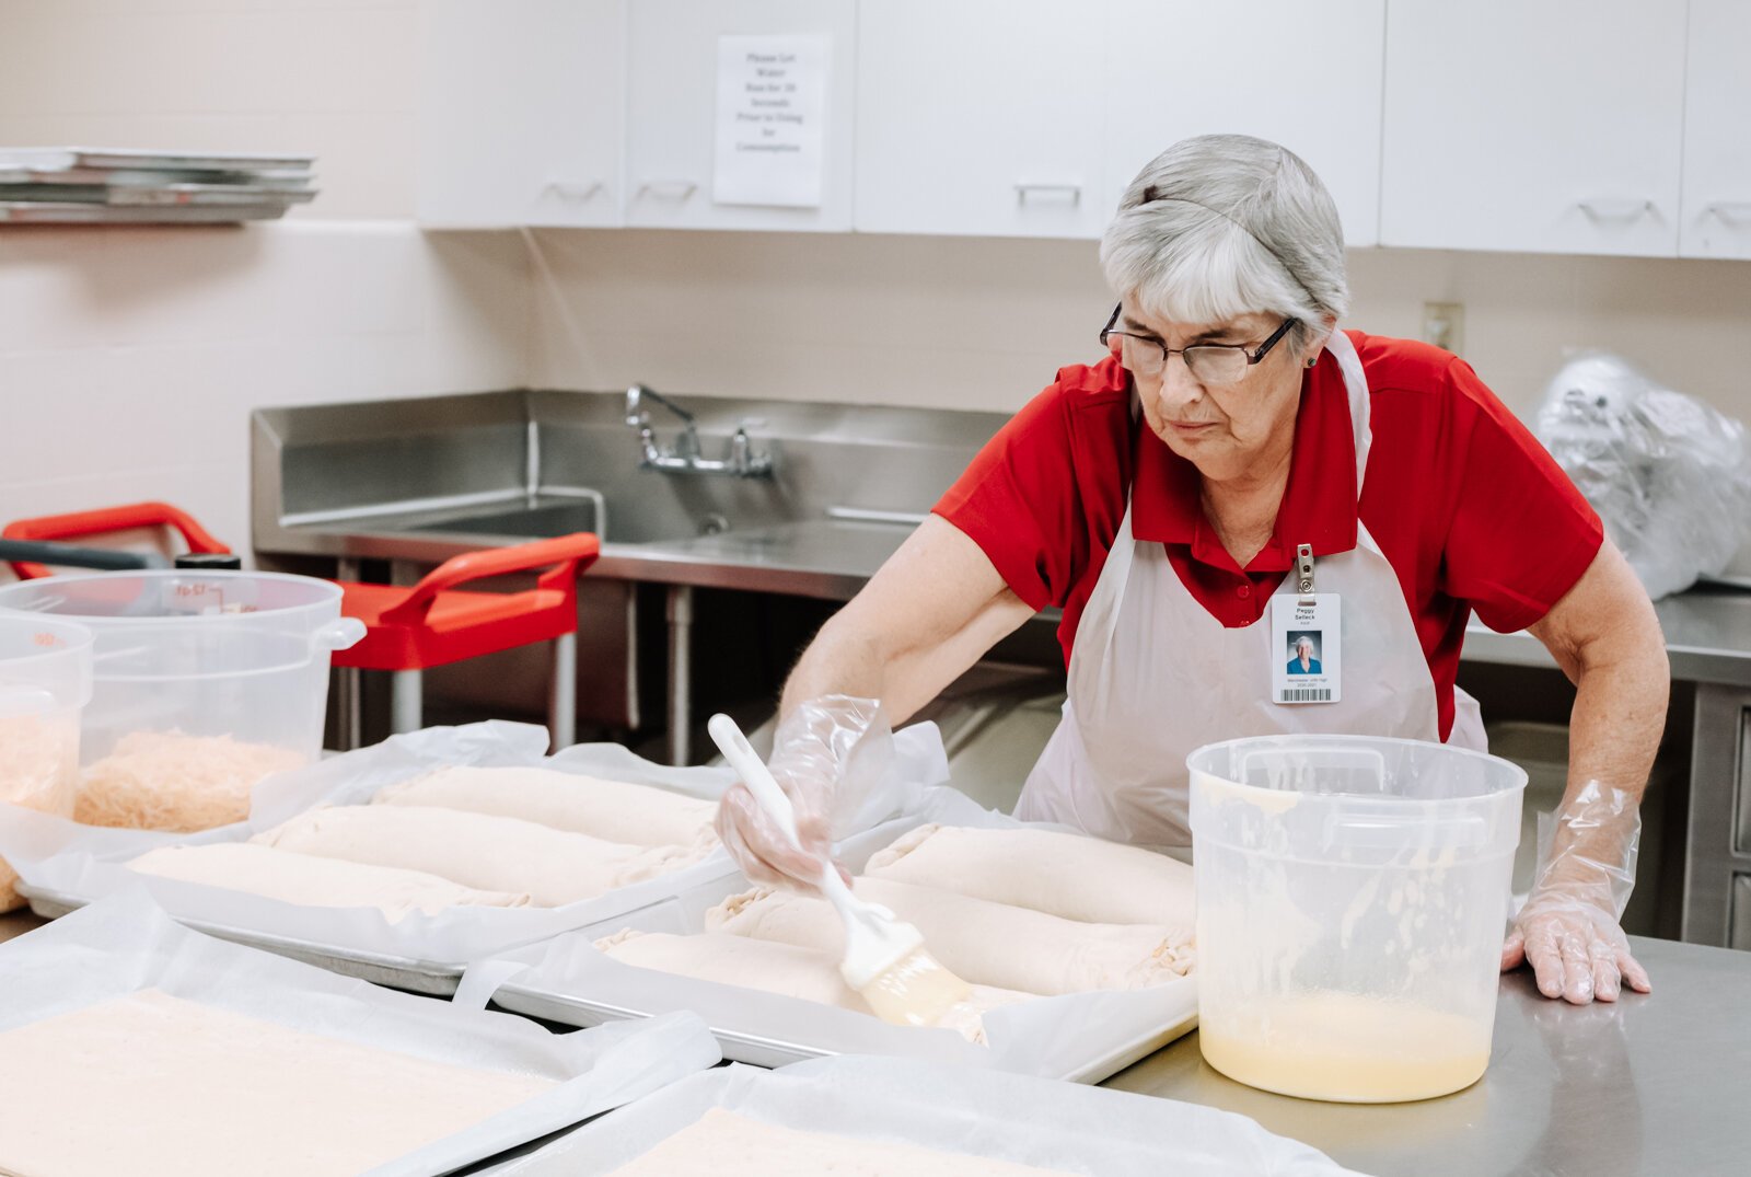
{"label": "upper part of larger clear tub, above its orange shredded cheese", "polygon": [[310,576],[168,569],[5,585],[0,610],[53,615],[93,632],[95,685],[81,741],[89,783],[93,762],[152,734],[278,750],[257,757],[275,767],[313,760],[329,652],[364,636],[361,622],[340,615],[340,597],[338,585]]}

